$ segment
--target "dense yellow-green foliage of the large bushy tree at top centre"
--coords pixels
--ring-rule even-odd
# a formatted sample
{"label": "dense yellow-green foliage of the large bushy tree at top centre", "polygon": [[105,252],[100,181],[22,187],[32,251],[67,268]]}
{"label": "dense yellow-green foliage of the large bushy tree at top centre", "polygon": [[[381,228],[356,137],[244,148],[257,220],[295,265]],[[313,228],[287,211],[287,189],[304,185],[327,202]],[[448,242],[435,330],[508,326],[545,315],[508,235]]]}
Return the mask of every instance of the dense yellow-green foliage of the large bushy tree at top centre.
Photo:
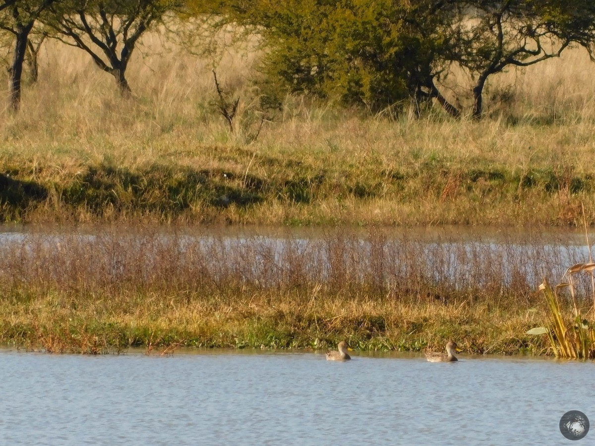
{"label": "dense yellow-green foliage of the large bushy tree at top centre", "polygon": [[407,24],[393,0],[259,2],[240,20],[267,44],[262,70],[274,89],[382,109],[417,95],[430,79],[437,42]]}

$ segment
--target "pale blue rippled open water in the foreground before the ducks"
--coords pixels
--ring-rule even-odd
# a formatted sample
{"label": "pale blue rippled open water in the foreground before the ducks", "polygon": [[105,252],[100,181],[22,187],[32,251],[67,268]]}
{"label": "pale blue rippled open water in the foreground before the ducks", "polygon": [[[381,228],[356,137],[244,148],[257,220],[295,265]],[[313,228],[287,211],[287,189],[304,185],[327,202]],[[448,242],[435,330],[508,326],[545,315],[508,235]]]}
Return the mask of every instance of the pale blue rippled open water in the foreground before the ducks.
{"label": "pale blue rippled open water in the foreground before the ducks", "polygon": [[0,443],[562,445],[565,412],[595,420],[592,362],[459,359],[2,351]]}

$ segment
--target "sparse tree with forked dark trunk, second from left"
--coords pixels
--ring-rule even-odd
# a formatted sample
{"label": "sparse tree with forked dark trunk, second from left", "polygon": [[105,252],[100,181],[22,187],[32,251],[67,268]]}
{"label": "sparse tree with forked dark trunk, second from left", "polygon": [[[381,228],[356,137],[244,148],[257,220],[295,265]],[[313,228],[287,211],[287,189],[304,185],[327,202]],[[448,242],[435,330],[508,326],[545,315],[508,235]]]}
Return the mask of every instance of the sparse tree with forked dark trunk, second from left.
{"label": "sparse tree with forked dark trunk, second from left", "polygon": [[134,49],[173,6],[173,0],[65,0],[52,8],[46,24],[56,31],[53,37],[86,51],[130,96],[126,70]]}

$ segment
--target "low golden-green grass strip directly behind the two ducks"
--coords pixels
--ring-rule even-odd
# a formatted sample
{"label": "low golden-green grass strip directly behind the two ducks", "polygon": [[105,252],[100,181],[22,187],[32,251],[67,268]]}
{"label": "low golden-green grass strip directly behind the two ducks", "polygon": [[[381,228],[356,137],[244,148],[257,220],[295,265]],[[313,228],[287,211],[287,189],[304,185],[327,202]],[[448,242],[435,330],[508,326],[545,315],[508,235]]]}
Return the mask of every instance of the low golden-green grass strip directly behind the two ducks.
{"label": "low golden-green grass strip directly behind the two ducks", "polygon": [[307,288],[284,296],[246,289],[231,290],[233,296],[21,293],[2,299],[0,342],[55,353],[177,346],[320,349],[343,339],[355,350],[441,350],[449,338],[468,353],[539,354],[547,347],[545,340],[522,335],[542,321],[536,309],[517,305],[325,296]]}

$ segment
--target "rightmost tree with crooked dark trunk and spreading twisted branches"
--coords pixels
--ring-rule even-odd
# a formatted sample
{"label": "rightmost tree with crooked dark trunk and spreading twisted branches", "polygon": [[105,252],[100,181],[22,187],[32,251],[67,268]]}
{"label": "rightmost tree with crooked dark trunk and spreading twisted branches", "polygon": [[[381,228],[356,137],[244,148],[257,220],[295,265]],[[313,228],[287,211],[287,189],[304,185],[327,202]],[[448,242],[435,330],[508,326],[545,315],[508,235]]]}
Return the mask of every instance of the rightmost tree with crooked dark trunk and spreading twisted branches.
{"label": "rightmost tree with crooked dark trunk and spreading twisted branches", "polygon": [[481,117],[488,77],[510,66],[527,67],[558,57],[573,43],[592,52],[595,42],[595,9],[590,1],[453,0],[440,5],[456,12],[452,26],[456,37],[440,57],[458,63],[475,78],[474,118]]}

